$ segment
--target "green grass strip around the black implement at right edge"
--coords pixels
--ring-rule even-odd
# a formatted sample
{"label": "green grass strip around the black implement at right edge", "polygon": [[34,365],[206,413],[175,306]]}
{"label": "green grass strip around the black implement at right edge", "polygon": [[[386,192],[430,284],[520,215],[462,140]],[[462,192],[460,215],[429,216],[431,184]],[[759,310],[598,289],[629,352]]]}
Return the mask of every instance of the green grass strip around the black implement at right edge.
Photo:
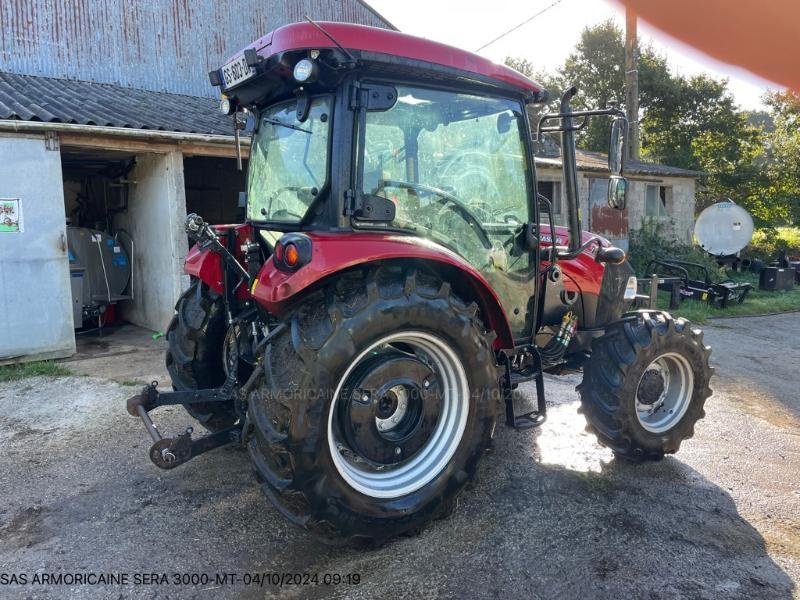
{"label": "green grass strip around the black implement at right edge", "polygon": [[[716,308],[704,302],[684,300],[680,307],[670,312],[695,323],[703,323],[714,317],[744,317],[800,310],[800,286],[787,292],[767,292],[758,289],[758,277],[750,273],[733,273],[730,279],[752,284],[742,304],[731,304],[727,308]],[[669,310],[669,293],[658,292],[658,307]]]}

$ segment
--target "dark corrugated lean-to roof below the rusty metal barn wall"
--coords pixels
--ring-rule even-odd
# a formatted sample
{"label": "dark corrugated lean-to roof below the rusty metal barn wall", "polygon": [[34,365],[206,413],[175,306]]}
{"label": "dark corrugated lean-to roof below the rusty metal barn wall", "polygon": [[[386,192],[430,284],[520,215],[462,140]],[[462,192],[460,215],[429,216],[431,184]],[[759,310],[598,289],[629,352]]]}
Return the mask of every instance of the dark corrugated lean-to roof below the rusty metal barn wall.
{"label": "dark corrugated lean-to roof below the rusty metal barn wall", "polygon": [[211,98],[2,72],[0,119],[233,134]]}

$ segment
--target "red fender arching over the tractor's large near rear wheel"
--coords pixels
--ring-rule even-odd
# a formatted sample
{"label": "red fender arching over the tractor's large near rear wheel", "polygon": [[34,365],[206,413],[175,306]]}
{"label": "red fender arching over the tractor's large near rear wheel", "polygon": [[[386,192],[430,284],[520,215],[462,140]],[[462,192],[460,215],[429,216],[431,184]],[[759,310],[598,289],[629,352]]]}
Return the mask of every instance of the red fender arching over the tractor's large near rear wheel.
{"label": "red fender arching over the tractor's large near rear wheel", "polygon": [[280,316],[303,291],[347,269],[375,261],[426,261],[454,291],[478,304],[486,325],[497,334],[495,349],[514,347],[508,318],[491,284],[455,252],[416,236],[346,232],[309,233],[308,237],[311,259],[307,264],[286,272],[270,258],[253,282],[253,298],[270,313]]}

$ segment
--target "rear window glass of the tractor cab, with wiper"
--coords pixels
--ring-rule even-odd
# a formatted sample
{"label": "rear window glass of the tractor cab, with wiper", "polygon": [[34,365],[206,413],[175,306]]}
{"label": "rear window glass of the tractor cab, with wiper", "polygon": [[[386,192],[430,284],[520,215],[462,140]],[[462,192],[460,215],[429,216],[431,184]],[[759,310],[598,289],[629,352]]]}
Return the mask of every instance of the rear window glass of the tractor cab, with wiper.
{"label": "rear window glass of the tractor cab, with wiper", "polygon": [[250,150],[247,218],[299,222],[325,185],[331,100],[311,101],[308,119],[297,120],[292,100],[265,109]]}

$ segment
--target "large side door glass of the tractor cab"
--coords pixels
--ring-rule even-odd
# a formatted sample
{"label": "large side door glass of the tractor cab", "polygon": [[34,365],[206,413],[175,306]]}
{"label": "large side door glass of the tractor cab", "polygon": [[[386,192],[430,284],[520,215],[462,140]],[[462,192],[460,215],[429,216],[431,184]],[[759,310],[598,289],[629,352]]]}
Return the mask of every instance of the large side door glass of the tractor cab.
{"label": "large side door glass of the tractor cab", "polygon": [[394,202],[392,227],[496,262],[529,220],[521,106],[411,86],[397,98],[366,115],[362,193]]}

